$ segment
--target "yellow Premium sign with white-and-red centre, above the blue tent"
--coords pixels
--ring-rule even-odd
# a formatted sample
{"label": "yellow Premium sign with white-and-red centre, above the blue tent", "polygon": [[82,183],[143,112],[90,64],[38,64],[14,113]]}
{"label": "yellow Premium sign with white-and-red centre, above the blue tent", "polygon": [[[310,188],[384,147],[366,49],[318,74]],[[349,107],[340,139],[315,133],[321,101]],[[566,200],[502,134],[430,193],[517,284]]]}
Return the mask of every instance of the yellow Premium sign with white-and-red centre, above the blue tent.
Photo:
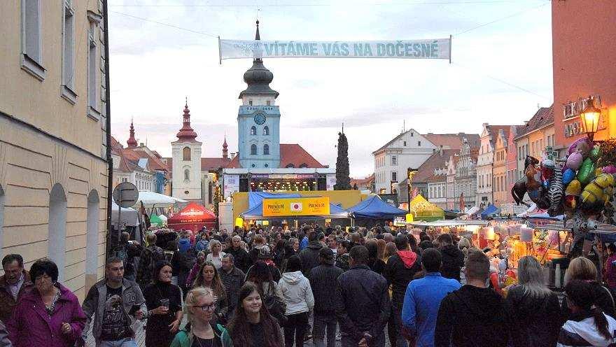
{"label": "yellow Premium sign with white-and-red centre, above the blue tent", "polygon": [[263,199],[263,217],[329,214],[330,198],[328,197]]}

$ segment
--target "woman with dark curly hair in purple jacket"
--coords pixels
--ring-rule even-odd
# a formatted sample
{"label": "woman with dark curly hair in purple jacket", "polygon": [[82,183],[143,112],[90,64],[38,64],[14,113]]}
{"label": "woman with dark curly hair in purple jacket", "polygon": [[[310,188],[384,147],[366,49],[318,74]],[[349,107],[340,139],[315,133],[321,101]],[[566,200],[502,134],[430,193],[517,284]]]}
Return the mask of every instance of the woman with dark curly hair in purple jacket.
{"label": "woman with dark curly hair in purple jacket", "polygon": [[34,289],[21,297],[13,319],[8,321],[13,346],[71,347],[83,343],[85,314],[73,292],[57,282],[56,264],[37,260],[30,276]]}

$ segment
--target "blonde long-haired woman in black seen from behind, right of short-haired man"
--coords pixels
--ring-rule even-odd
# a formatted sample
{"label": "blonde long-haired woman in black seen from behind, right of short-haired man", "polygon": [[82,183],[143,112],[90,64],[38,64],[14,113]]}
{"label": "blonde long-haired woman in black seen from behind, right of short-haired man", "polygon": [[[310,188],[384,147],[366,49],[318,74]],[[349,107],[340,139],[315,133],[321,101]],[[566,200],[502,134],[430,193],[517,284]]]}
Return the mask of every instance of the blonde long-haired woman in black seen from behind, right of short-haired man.
{"label": "blonde long-haired woman in black seen from behind, right of short-haired man", "polygon": [[519,285],[509,290],[513,347],[556,346],[561,327],[559,299],[547,288],[538,260],[526,255],[518,261]]}

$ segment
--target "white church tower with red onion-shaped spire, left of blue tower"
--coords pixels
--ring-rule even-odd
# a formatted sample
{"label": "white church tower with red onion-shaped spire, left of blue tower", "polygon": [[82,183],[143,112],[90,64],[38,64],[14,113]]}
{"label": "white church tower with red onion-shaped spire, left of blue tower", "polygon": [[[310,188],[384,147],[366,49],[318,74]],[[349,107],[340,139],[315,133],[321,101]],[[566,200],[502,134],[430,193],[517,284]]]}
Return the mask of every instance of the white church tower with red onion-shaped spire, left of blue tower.
{"label": "white church tower with red onion-shaped spire, left of blue tower", "polygon": [[200,200],[201,197],[201,145],[197,133],[190,127],[188,100],[184,106],[183,126],[176,135],[172,146],[172,196],[186,200]]}

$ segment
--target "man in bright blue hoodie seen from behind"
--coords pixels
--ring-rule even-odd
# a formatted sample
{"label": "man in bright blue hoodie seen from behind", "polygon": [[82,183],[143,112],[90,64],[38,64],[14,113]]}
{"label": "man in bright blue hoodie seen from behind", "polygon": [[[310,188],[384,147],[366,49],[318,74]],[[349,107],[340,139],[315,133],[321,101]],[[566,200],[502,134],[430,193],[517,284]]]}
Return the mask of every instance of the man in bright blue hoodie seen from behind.
{"label": "man in bright blue hoodie seen from behind", "polygon": [[409,283],[402,306],[402,324],[416,337],[416,347],[428,347],[434,346],[440,302],[461,285],[441,276],[442,255],[436,248],[423,251],[421,265],[426,276]]}

